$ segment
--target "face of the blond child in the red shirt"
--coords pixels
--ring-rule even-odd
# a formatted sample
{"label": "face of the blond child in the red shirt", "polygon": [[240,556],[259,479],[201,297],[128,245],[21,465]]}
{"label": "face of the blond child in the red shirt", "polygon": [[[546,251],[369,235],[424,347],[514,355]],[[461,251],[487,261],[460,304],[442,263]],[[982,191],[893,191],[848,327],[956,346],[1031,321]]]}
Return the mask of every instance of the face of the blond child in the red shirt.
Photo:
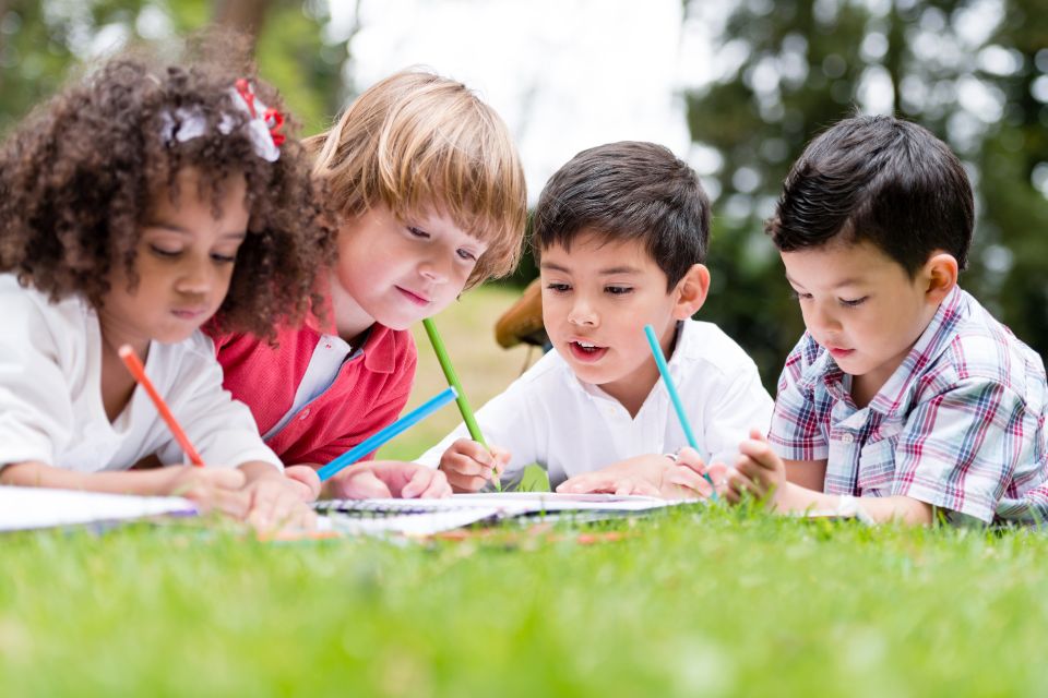
{"label": "face of the blond child in the red shirt", "polygon": [[345,220],[332,284],[340,334],[352,338],[376,322],[405,329],[436,315],[458,297],[486,250],[434,210],[400,220],[376,206]]}

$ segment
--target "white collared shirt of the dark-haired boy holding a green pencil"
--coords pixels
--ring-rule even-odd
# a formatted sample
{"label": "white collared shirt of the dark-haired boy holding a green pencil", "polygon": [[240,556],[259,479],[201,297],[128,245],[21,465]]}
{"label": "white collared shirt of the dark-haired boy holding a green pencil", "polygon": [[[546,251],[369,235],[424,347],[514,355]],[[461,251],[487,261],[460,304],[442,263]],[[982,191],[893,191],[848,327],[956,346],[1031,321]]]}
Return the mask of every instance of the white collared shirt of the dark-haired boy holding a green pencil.
{"label": "white collared shirt of the dark-haired boy holding a green pencil", "polygon": [[[669,358],[677,386],[703,456],[734,465],[749,430],[767,433],[772,398],[757,364],[711,323],[680,323]],[[503,480],[520,479],[533,462],[549,473],[550,485],[644,454],[688,445],[677,412],[659,381],[635,418],[596,385],[583,383],[556,351],[546,353],[501,395],[477,410],[485,441],[510,452]],[[437,467],[451,444],[468,438],[465,425],[430,448],[418,462]]]}

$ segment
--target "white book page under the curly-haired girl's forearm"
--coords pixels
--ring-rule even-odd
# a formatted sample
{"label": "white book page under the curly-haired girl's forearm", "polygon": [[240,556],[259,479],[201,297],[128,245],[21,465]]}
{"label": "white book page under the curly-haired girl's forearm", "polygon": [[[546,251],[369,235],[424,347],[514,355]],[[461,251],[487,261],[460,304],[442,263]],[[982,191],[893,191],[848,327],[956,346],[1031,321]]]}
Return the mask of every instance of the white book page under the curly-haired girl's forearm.
{"label": "white book page under the curly-haired girl's forearm", "polygon": [[196,507],[182,497],[0,486],[0,531],[120,521],[162,514],[194,515]]}

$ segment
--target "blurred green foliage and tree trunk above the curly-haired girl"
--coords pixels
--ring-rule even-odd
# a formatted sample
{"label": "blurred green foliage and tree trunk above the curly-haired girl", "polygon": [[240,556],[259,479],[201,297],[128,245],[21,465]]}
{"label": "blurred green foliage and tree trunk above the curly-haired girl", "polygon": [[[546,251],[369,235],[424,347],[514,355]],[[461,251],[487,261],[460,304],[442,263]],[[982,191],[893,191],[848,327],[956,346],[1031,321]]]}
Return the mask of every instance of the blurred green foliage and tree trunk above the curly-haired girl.
{"label": "blurred green foliage and tree trunk above the curly-haired girl", "polygon": [[163,41],[212,22],[255,37],[262,76],[284,93],[306,133],[330,123],[349,94],[342,68],[356,25],[335,29],[326,0],[0,0],[0,134],[76,64],[129,40]]}

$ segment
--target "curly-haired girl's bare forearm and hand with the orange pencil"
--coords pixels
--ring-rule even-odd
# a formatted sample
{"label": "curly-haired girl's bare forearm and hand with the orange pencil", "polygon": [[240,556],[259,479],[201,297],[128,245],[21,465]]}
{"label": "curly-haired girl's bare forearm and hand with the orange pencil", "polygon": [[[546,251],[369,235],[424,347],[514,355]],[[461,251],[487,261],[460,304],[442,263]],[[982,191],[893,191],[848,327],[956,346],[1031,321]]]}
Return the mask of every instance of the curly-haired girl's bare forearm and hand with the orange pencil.
{"label": "curly-haired girl's bare forearm and hand with the orange pencil", "polygon": [[249,500],[238,470],[166,466],[148,470],[80,472],[38,461],[15,462],[0,470],[0,484],[55,488],[115,494],[182,496],[201,509],[217,509],[243,518]]}

